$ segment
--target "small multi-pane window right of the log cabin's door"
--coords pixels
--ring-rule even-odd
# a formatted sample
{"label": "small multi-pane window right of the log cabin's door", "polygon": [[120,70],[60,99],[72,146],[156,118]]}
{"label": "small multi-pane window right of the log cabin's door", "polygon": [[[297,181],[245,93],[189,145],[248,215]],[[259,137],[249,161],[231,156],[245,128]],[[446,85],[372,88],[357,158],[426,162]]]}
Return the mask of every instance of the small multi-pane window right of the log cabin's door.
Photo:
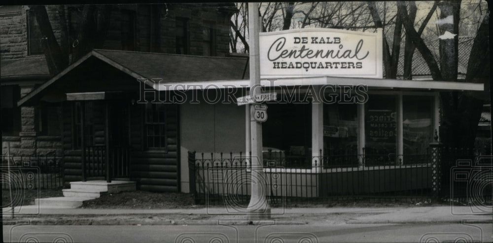
{"label": "small multi-pane window right of the log cabin's door", "polygon": [[166,149],[166,114],[164,104],[145,104],[144,135],[148,150]]}

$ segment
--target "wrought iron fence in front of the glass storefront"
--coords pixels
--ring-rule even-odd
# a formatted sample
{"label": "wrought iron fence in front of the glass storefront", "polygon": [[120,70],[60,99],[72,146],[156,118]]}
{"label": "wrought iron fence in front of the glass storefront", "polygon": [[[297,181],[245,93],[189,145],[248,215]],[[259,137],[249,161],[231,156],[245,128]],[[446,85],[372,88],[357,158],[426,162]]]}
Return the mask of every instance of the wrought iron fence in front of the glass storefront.
{"label": "wrought iron fence in front of the glass storefront", "polygon": [[[449,190],[451,184],[444,180],[450,180],[447,173],[451,173],[451,161],[455,163],[473,152],[438,149],[438,153],[428,149],[425,154],[402,156],[364,153],[290,157],[270,152],[263,156],[265,178],[254,179],[264,180],[260,182],[265,183],[273,205],[367,199],[429,201],[436,199],[435,190],[441,194]],[[437,160],[436,156],[442,157]],[[190,189],[197,203],[246,206],[252,180],[249,158],[242,153],[189,152]],[[438,180],[441,183],[437,184]],[[454,195],[457,200],[470,200],[463,193]]]}

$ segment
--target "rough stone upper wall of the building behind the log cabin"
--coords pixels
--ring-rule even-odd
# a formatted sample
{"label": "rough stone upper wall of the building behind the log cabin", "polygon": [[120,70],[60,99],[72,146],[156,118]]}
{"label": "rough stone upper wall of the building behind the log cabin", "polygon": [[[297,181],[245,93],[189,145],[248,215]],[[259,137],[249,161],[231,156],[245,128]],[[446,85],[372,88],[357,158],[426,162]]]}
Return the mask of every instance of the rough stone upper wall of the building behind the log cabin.
{"label": "rough stone upper wall of the building behind the log cabin", "polygon": [[[226,56],[229,53],[229,15],[218,13],[217,7],[202,6],[201,4],[169,3],[166,7],[159,5],[130,4],[114,5],[111,14],[111,24],[108,30],[104,48],[121,50],[121,11],[131,10],[136,13],[136,51],[156,52],[156,46],[163,53],[176,53],[176,17],[189,19],[190,52],[191,55],[204,55],[203,29],[212,27],[215,31],[215,49],[217,56]],[[11,14],[0,13],[0,58],[13,59],[28,56],[28,6],[20,6],[19,10]],[[56,5],[46,7],[53,32],[60,43],[61,28]],[[152,13],[151,13],[152,12]],[[66,19],[69,21],[69,5],[65,6]],[[156,28],[156,15],[160,16],[160,27]],[[152,30],[151,30],[152,29]],[[160,40],[156,40],[156,30],[160,29]],[[153,46],[151,46],[153,45]]]}

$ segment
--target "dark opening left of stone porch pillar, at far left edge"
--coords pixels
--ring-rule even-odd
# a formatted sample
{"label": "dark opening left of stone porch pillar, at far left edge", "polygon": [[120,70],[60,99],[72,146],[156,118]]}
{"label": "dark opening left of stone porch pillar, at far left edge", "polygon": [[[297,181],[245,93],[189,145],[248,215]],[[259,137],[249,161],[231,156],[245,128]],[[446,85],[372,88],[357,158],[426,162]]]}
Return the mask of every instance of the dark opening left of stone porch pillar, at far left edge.
{"label": "dark opening left of stone porch pillar, at far left edge", "polygon": [[21,131],[21,108],[17,106],[19,98],[19,86],[1,86],[2,136],[18,136]]}

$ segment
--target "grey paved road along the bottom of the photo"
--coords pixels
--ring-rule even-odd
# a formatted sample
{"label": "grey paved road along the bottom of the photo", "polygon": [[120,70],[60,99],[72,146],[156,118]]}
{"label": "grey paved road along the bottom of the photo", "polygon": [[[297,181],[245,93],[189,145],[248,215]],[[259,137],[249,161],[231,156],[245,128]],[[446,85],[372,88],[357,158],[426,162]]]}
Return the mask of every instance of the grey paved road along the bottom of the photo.
{"label": "grey paved road along the bottom of the photo", "polygon": [[[492,224],[325,224],[3,227],[4,242],[493,242]],[[436,238],[438,241],[432,241]],[[300,241],[305,239],[306,241]],[[215,240],[215,241],[214,241]],[[280,241],[282,240],[282,241]]]}

